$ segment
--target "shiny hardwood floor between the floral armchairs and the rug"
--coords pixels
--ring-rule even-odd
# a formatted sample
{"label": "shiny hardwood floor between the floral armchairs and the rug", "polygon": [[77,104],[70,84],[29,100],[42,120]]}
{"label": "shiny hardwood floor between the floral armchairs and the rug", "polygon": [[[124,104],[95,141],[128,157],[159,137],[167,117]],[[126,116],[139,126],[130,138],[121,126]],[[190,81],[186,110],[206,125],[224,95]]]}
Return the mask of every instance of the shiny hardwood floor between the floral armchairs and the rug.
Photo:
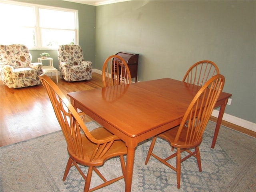
{"label": "shiny hardwood floor between the floral armchairs and the rug", "polygon": [[[56,83],[56,76],[52,76]],[[102,87],[101,74],[93,73],[92,79],[82,82],[56,83],[64,94]],[[67,96],[69,99],[69,97]],[[42,84],[26,88],[10,89],[0,84],[0,146],[60,130],[48,94]],[[85,122],[91,121],[90,117]]]}

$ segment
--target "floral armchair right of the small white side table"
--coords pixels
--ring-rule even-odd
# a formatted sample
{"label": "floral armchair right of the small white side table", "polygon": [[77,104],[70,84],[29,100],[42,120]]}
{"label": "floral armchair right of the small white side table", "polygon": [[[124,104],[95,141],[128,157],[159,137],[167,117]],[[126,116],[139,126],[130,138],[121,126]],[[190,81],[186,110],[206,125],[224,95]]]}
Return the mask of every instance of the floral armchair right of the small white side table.
{"label": "floral armchair right of the small white side table", "polygon": [[66,81],[82,81],[92,78],[92,62],[84,61],[79,45],[60,45],[58,48],[60,77]]}

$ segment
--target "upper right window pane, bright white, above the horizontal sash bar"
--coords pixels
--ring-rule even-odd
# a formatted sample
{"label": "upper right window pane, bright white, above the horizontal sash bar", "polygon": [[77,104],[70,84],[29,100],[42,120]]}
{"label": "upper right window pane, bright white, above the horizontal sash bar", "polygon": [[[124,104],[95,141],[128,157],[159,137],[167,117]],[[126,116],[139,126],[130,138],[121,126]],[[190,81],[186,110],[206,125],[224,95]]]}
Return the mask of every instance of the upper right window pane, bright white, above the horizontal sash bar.
{"label": "upper right window pane, bright white, above the horizontal sash bar", "polygon": [[39,9],[39,18],[42,28],[75,29],[74,12]]}

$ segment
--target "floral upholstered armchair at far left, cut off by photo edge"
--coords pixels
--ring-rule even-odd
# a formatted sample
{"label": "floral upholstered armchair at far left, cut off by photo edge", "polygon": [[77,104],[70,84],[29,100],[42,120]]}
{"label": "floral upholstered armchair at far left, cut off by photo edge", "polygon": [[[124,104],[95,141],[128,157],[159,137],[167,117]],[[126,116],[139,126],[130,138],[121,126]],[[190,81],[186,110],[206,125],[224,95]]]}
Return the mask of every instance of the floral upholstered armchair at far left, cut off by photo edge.
{"label": "floral upholstered armchair at far left, cut off by photo edge", "polygon": [[22,44],[0,45],[0,65],[3,83],[9,88],[40,84],[42,63],[31,63],[28,48]]}

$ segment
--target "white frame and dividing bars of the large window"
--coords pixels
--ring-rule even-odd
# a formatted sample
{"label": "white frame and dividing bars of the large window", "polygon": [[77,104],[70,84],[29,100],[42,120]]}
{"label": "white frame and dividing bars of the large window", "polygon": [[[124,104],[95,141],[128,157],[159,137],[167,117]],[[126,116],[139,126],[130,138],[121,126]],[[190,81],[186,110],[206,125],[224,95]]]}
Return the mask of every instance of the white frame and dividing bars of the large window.
{"label": "white frame and dividing bars of the large window", "polygon": [[[50,47],[50,46],[42,46],[42,36],[41,36],[41,29],[40,25],[39,25],[39,9],[49,9],[49,10],[56,10],[56,11],[64,11],[64,12],[73,12],[74,16],[75,16],[75,21],[74,21],[74,31],[75,32],[75,39],[74,39],[74,44],[78,44],[79,42],[79,36],[78,36],[78,10],[74,10],[74,9],[67,9],[67,8],[60,8],[60,7],[54,7],[54,6],[45,6],[45,5],[40,5],[40,4],[30,4],[30,3],[24,3],[24,2],[9,2],[9,1],[4,1],[2,0],[0,2],[4,3],[4,4],[13,4],[13,5],[18,5],[18,6],[28,6],[28,7],[32,7],[34,10],[34,16],[36,24],[34,26],[35,29],[35,41],[36,41],[36,46],[28,46],[29,49],[31,50],[57,50],[58,48],[56,47]],[[11,10],[10,10],[10,14],[11,14]],[[4,18],[3,18],[4,19]],[[61,19],[61,18],[60,18]],[[31,28],[31,27],[26,27],[24,26],[24,28]],[[46,29],[46,28],[43,28]],[[49,28],[49,29],[54,29],[54,28]],[[3,30],[3,29],[1,29]],[[70,30],[70,29],[59,29],[58,30]],[[0,42],[1,44],[1,42]]]}

